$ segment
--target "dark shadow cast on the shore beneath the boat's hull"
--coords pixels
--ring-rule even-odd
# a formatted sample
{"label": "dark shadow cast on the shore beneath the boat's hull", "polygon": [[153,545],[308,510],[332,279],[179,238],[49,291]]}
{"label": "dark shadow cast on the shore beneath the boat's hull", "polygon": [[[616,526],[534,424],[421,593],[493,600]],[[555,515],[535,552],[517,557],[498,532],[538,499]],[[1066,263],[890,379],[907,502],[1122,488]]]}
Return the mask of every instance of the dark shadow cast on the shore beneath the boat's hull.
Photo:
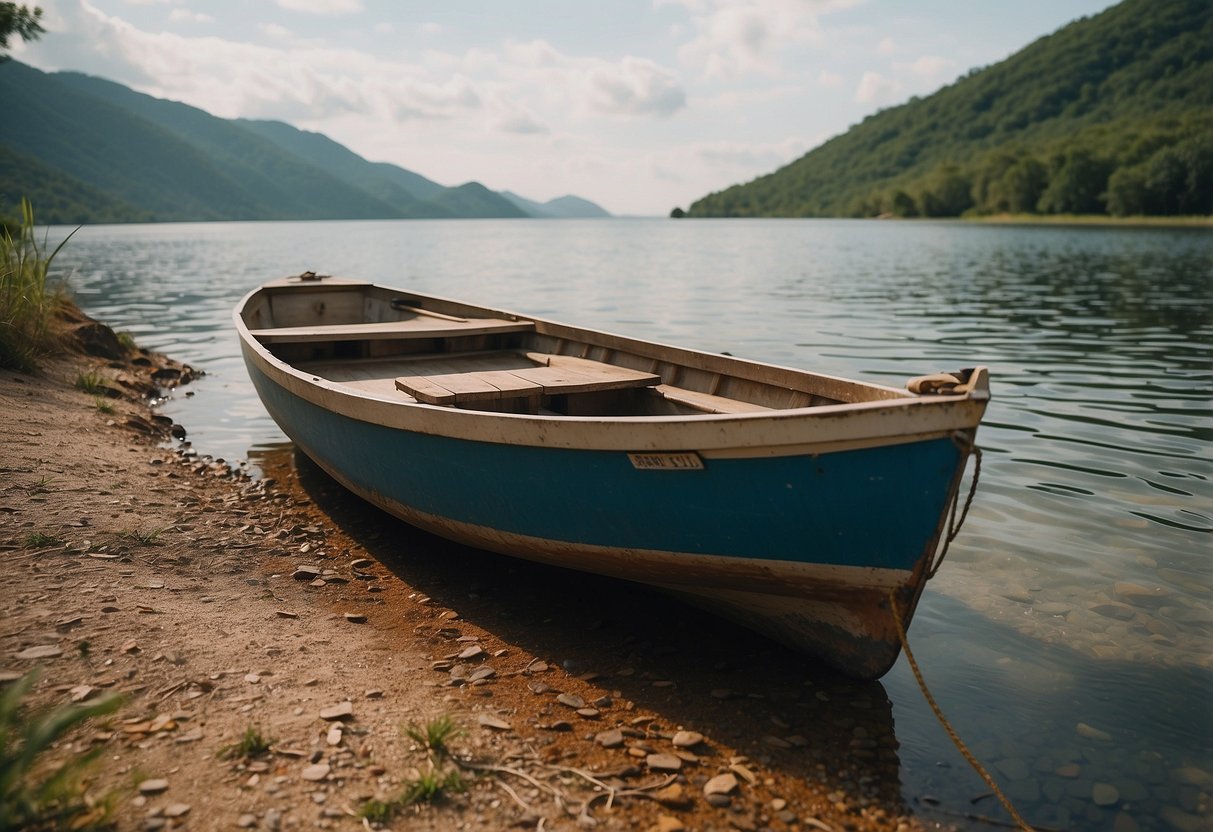
{"label": "dark shadow cast on the shore beneath the boat's hull", "polygon": [[[909,811],[892,702],[878,682],[842,677],[642,585],[429,535],[348,492],[302,452],[290,456],[317,508],[385,569],[462,621],[634,703],[623,722],[657,714],[853,807]],[[602,719],[593,730],[610,726]]]}

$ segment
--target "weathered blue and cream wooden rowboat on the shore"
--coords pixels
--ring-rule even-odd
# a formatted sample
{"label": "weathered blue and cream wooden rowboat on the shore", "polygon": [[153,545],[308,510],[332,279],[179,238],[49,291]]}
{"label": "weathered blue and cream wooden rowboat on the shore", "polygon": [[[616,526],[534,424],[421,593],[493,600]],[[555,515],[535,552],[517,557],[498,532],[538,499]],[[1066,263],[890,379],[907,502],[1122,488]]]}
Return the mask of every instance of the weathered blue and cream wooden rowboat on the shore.
{"label": "weathered blue and cream wooden rowboat on the shore", "polygon": [[270,416],[360,497],[861,679],[893,666],[963,520],[990,398],[983,366],[898,388],[311,272],[234,323]]}

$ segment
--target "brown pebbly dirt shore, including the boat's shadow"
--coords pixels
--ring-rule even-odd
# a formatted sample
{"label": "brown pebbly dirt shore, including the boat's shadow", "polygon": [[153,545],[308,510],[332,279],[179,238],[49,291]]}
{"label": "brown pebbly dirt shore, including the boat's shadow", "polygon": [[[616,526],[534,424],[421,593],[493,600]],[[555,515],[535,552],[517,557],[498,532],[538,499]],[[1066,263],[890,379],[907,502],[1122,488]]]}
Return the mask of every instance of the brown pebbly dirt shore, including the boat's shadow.
{"label": "brown pebbly dirt shore, including the boat's shadow", "polygon": [[[189,376],[139,353],[0,372],[0,680],[125,697],[52,753],[103,750],[86,786],[119,828],[353,830],[427,785],[387,826],[938,828],[878,684],[431,537],[287,451],[256,480],[200,458],[148,404]],[[448,753],[409,735],[444,719]],[[268,752],[220,757],[250,729]]]}

